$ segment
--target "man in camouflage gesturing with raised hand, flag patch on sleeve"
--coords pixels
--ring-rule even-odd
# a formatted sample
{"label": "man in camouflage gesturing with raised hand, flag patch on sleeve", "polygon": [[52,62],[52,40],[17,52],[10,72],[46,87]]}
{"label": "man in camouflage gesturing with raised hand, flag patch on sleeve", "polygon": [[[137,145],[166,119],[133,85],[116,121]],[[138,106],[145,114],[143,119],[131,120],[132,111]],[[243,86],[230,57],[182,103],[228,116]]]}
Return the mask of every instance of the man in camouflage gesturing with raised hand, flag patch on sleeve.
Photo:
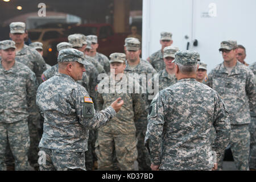
{"label": "man in camouflage gesturing with raised hand, flag patch on sleeve", "polygon": [[82,79],[84,64],[88,64],[84,53],[63,49],[57,61],[59,73],[43,82],[36,94],[36,104],[44,116],[40,170],[85,170],[88,129],[105,125],[121,109],[123,101],[118,98],[96,112],[92,98],[76,82]]}

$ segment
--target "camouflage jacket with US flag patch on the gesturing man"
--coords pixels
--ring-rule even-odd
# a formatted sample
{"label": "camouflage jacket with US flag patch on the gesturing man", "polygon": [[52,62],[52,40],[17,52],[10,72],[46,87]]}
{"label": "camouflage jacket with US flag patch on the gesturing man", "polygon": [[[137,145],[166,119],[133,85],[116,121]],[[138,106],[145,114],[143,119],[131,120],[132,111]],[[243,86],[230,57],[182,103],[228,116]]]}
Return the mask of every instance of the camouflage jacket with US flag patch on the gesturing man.
{"label": "camouflage jacket with US flag patch on the gesturing man", "polygon": [[115,115],[112,106],[96,112],[85,88],[61,73],[39,86],[36,104],[44,116],[39,147],[64,152],[86,151],[88,129],[105,125]]}

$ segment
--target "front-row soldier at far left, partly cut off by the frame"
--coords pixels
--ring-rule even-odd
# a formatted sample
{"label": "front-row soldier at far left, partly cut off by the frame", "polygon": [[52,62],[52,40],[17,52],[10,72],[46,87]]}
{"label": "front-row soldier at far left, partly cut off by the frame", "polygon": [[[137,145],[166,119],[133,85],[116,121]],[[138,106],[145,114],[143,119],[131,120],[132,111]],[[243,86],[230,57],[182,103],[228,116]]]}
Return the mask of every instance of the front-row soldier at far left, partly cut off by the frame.
{"label": "front-row soldier at far left, partly cut off by the frame", "polygon": [[0,171],[6,170],[7,143],[14,156],[15,170],[28,170],[28,122],[38,117],[36,77],[30,68],[15,61],[15,42],[4,40],[0,49]]}

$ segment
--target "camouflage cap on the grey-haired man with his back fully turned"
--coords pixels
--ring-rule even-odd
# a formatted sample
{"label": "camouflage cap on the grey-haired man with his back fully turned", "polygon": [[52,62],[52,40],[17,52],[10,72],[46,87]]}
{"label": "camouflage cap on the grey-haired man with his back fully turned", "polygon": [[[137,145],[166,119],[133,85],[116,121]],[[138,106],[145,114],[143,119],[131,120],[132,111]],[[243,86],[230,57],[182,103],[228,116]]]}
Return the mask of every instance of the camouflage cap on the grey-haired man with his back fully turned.
{"label": "camouflage cap on the grey-haired man with his back fully turned", "polygon": [[182,65],[196,65],[197,64],[197,52],[186,50],[178,51],[175,53],[175,60],[172,63],[182,64]]}

